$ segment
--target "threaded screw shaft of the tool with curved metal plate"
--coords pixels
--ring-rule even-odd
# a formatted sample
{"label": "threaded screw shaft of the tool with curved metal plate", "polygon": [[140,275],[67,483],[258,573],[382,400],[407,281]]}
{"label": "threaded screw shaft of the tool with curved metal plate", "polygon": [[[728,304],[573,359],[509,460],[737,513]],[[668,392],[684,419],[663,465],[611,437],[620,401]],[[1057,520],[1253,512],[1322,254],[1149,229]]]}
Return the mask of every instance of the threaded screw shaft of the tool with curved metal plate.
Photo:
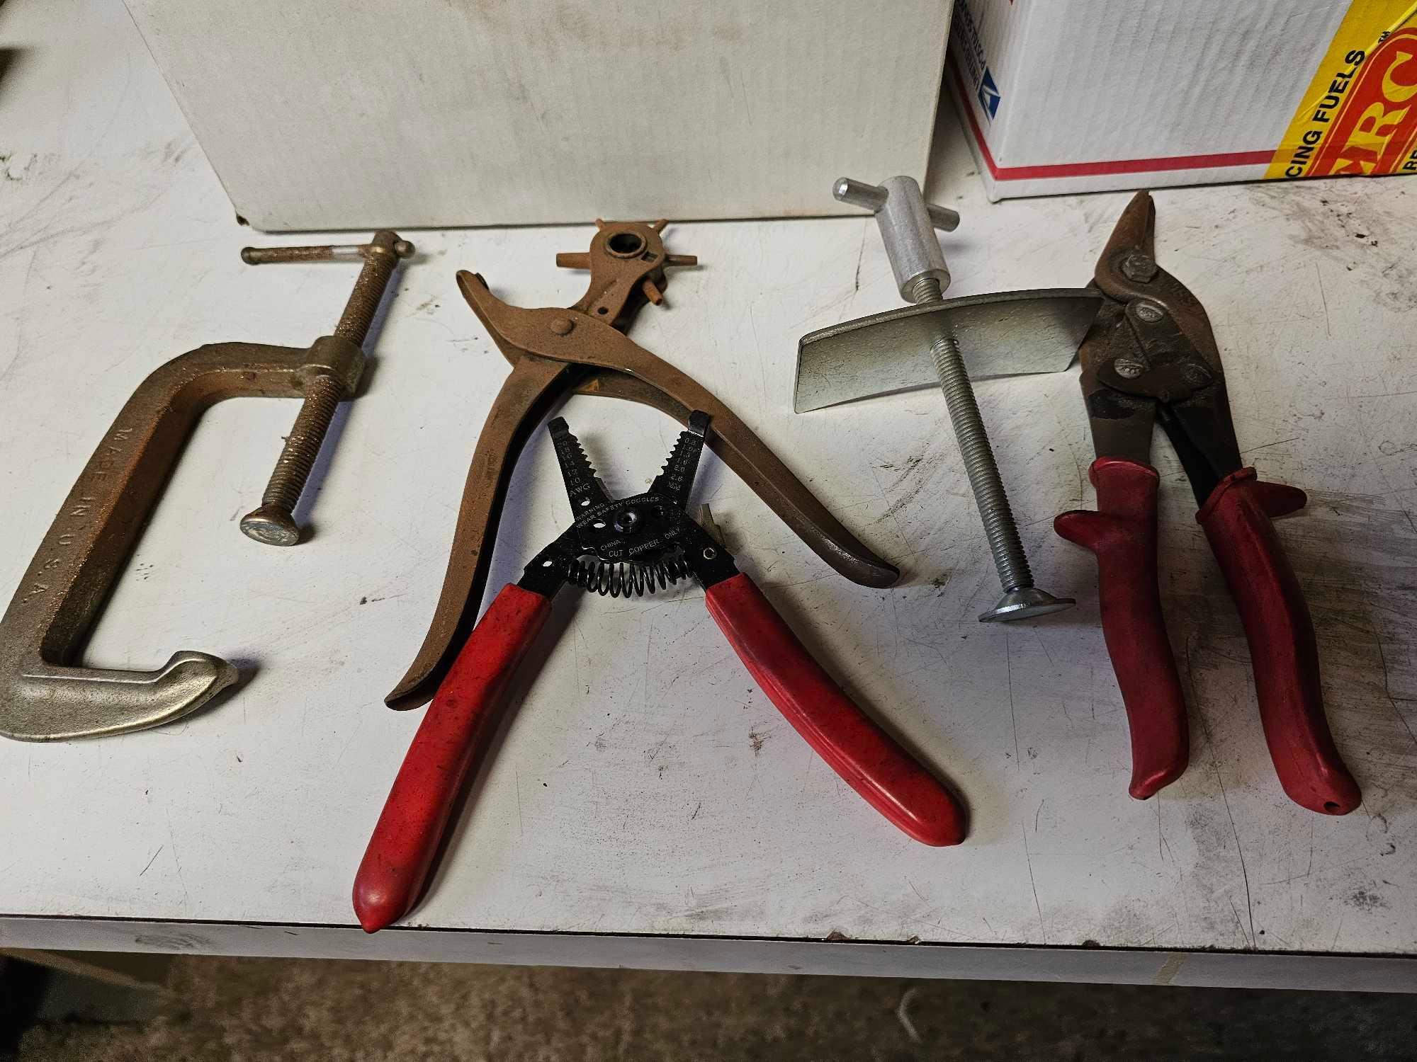
{"label": "threaded screw shaft of the tool with curved metal plate", "polygon": [[[944,302],[939,282],[931,276],[915,280],[911,285],[910,296],[911,302],[921,306]],[[959,445],[961,457],[964,457],[969,490],[973,493],[979,517],[983,520],[983,532],[989,541],[993,566],[999,572],[999,582],[1003,583],[1005,592],[1029,589],[1033,586],[1029,558],[1024,556],[1023,542],[1019,541],[1019,527],[1013,520],[1003,480],[999,477],[999,464],[993,459],[993,447],[989,445],[989,435],[985,432],[983,418],[979,415],[979,402],[969,384],[969,372],[959,354],[959,344],[948,329],[942,330],[931,344],[930,355],[935,361],[939,389],[945,394],[949,423],[955,429],[955,442]]]}

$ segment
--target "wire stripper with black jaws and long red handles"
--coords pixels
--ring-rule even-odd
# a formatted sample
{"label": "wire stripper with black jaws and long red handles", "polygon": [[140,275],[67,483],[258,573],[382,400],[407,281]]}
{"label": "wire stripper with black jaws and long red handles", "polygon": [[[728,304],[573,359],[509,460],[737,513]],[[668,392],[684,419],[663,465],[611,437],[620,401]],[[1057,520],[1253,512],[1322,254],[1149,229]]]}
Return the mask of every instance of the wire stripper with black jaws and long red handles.
{"label": "wire stripper with black jaws and long red handles", "polygon": [[[852,789],[917,841],[964,840],[965,813],[949,790],[852,702],[723,544],[689,518],[706,413],[689,416],[649,490],[629,498],[606,494],[564,419],[550,430],[574,523],[497,593],[419,724],[354,879],[367,932],[417,899],[462,780],[496,729],[499,701],[565,585],[642,596],[693,576],[768,700]],[[703,513],[710,523],[707,506]]]}

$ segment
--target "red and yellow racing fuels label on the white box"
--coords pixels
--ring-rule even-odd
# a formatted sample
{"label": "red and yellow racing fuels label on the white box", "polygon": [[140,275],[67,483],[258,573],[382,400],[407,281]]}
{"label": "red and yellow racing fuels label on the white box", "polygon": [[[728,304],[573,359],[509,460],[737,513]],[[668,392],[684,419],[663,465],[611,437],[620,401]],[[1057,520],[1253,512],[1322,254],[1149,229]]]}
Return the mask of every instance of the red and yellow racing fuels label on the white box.
{"label": "red and yellow racing fuels label on the white box", "polygon": [[1417,174],[1417,4],[1353,0],[1265,177]]}

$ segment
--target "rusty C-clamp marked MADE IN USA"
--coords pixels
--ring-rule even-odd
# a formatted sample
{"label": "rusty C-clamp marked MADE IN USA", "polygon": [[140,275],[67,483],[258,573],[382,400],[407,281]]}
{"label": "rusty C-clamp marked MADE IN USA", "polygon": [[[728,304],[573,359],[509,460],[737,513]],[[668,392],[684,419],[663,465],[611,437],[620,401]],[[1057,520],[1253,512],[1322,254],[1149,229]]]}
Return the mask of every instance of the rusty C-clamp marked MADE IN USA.
{"label": "rusty C-clamp marked MADE IN USA", "polygon": [[[79,473],[0,619],[0,733],[60,741],[139,731],[200,708],[237,681],[237,668],[208,653],[176,653],[157,671],[111,671],[75,661],[207,406],[242,395],[305,396],[313,404],[326,388],[353,394],[364,367],[359,343],[393,273],[393,259],[412,253],[412,245],[394,232],[380,232],[373,244],[354,251],[366,269],[340,323],[340,329],[346,323],[350,329],[337,329],[307,348],[208,344],[173,358],[139,384]],[[339,255],[339,248],[242,252],[247,262]],[[387,261],[390,268],[371,270],[371,261]],[[305,413],[302,419],[307,419]],[[323,426],[305,435],[300,421],[296,428],[292,442],[299,436],[298,449],[313,460]],[[299,480],[293,496],[281,496],[286,515],[307,473],[309,463],[298,477],[283,477],[286,484]]]}

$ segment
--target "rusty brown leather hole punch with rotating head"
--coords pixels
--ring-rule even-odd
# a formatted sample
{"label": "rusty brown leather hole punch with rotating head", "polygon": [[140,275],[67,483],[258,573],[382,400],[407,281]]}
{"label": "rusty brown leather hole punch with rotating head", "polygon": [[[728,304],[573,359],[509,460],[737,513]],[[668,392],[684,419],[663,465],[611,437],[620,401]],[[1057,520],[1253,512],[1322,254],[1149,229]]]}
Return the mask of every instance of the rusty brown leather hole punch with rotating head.
{"label": "rusty brown leather hole punch with rotating head", "polygon": [[595,224],[589,251],[555,256],[558,266],[591,272],[585,295],[565,309],[510,306],[482,276],[458,273],[463,297],[512,362],[512,372],[478,436],[432,623],[408,673],[384,698],[390,708],[428,701],[466,641],[486,589],[517,453],[541,418],[571,392],[640,402],[680,423],[689,423],[691,411],[704,411],[713,418],[708,445],[714,453],[818,556],[864,586],[890,586],[900,576],[842,527],[727,405],[625,334],[640,307],[663,302],[666,266],[697,262],[693,255],[665,251],[660,231],[666,222]]}

